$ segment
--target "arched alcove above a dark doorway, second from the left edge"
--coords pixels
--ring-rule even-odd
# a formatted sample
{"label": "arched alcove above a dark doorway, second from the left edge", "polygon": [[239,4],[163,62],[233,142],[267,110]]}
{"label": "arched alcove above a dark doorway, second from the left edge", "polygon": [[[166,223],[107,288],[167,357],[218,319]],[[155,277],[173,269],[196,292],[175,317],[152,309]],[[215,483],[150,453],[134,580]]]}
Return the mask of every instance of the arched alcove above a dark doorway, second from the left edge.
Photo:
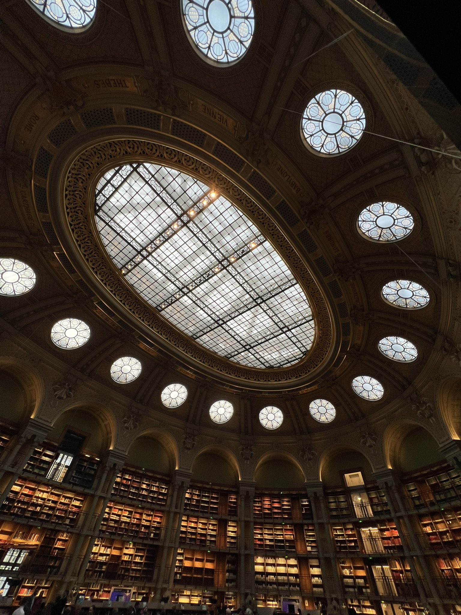
{"label": "arched alcove above a dark doorway, second from the left edge", "polygon": [[111,434],[93,408],[68,408],[53,423],[48,438],[60,442],[68,430],[85,437],[82,451],[101,456],[111,446]]}

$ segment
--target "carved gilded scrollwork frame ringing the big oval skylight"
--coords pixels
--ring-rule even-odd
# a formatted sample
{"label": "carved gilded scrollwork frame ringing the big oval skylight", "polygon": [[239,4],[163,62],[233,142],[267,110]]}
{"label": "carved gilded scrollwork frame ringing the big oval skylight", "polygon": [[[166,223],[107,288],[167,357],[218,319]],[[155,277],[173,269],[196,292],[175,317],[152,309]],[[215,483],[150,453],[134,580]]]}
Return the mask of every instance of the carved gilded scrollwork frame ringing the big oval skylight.
{"label": "carved gilded scrollwork frame ringing the big oval skylight", "polygon": [[[127,288],[119,276],[109,256],[100,247],[93,233],[91,220],[94,211],[95,194],[91,188],[93,182],[103,170],[110,165],[116,166],[128,161],[159,162],[216,188],[233,202],[250,220],[254,220],[261,232],[277,247],[278,253],[290,267],[298,282],[309,296],[312,312],[317,325],[317,341],[310,351],[298,363],[291,367],[277,370],[258,370],[232,363],[215,353],[208,352],[203,346],[181,333],[167,322],[154,308],[148,306],[136,295],[135,290]],[[151,331],[162,343],[168,343],[182,352],[189,359],[201,363],[204,367],[217,371],[220,375],[239,378],[253,383],[286,383],[297,379],[312,379],[314,373],[329,357],[333,341],[333,330],[329,311],[323,294],[306,268],[301,257],[288,242],[276,224],[242,189],[216,169],[190,154],[174,148],[152,143],[122,139],[105,141],[92,145],[74,160],[66,178],[65,214],[68,221],[68,241],[76,244],[81,258],[97,277],[100,284],[111,293],[117,303],[138,323]],[[57,226],[59,224],[57,223]]]}

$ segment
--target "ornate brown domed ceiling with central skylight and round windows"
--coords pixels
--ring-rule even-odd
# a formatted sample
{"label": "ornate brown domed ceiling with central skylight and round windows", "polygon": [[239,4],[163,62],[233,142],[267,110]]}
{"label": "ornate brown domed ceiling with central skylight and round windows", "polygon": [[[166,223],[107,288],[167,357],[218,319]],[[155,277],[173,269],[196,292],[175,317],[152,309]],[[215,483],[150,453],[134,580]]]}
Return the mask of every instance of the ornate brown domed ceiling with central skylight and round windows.
{"label": "ornate brown domed ceiling with central skylight and round windows", "polygon": [[1,101],[23,343],[216,435],[333,437],[420,395],[456,347],[459,176],[399,143],[438,127],[344,10],[30,4],[4,10]]}

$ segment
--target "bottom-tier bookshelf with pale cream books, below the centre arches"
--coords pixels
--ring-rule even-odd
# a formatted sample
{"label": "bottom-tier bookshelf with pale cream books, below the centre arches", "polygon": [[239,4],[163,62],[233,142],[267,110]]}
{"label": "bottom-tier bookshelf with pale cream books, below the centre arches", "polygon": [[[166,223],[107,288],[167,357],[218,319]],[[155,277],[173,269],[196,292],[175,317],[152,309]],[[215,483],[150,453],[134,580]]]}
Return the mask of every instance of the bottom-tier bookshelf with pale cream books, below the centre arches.
{"label": "bottom-tier bookshelf with pale cream books, below the centre arches", "polygon": [[256,593],[297,595],[299,585],[299,569],[294,557],[254,557],[254,581]]}

